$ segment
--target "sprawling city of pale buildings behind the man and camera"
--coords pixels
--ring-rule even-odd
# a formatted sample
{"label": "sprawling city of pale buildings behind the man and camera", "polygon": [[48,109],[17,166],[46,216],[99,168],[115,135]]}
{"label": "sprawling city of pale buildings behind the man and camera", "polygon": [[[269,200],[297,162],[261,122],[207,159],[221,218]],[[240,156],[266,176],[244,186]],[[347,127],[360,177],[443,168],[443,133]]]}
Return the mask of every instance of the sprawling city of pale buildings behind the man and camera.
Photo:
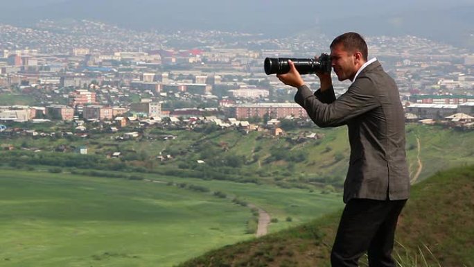
{"label": "sprawling city of pale buildings behind the man and camera", "polygon": [[[366,38],[369,57],[398,84],[407,121],[473,128],[473,53],[414,36]],[[20,100],[0,106],[0,130],[21,121],[72,121],[87,132],[94,121],[117,129],[130,121],[248,128],[307,120],[292,101],[295,89],[265,75],[263,60],[313,58],[330,42],[308,33],[140,32],[96,21],[0,25],[0,94]],[[305,80],[319,86],[314,75]],[[335,91],[348,85],[335,82]]]}

